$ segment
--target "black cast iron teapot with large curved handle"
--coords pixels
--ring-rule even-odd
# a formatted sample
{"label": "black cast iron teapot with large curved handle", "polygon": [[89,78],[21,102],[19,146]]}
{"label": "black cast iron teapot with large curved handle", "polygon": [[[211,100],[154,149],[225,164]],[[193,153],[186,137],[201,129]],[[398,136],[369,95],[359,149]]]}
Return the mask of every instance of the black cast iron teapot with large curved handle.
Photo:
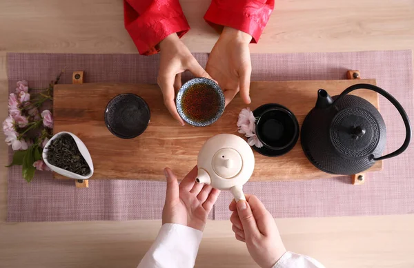
{"label": "black cast iron teapot with large curved handle", "polygon": [[[402,116],[406,138],[403,145],[385,156],[386,127],[380,112],[368,101],[348,93],[373,90],[391,101]],[[339,96],[317,92],[315,107],[302,125],[304,153],[315,167],[331,174],[351,175],[363,172],[375,161],[404,152],[411,141],[411,125],[404,108],[388,92],[369,84],[351,85]]]}

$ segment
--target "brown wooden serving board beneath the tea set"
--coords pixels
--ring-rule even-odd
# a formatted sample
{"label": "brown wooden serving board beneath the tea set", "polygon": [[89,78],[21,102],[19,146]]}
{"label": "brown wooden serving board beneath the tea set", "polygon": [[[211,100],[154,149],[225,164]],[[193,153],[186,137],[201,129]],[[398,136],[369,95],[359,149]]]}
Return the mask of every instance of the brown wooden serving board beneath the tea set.
{"label": "brown wooden serving board beneath the tea set", "polygon": [[[164,181],[163,169],[170,167],[181,179],[197,163],[197,154],[204,142],[220,133],[237,132],[237,117],[243,108],[251,110],[265,103],[279,103],[290,109],[302,125],[306,114],[315,106],[317,90],[324,88],[331,96],[356,83],[376,84],[375,79],[340,81],[253,82],[250,86],[252,103],[246,105],[237,96],[226,107],[223,116],[208,127],[181,127],[164,107],[157,85],[85,83],[55,85],[54,131],[68,131],[81,138],[90,151],[95,167],[93,178],[140,179]],[[144,134],[124,140],[113,136],[103,120],[103,111],[114,96],[134,93],[145,99],[151,120]],[[369,90],[355,94],[378,108],[378,95]],[[255,172],[250,181],[293,181],[331,177],[314,167],[304,155],[300,141],[285,154],[275,158],[255,152]],[[377,161],[371,171],[382,169]],[[63,178],[55,174],[57,178]]]}

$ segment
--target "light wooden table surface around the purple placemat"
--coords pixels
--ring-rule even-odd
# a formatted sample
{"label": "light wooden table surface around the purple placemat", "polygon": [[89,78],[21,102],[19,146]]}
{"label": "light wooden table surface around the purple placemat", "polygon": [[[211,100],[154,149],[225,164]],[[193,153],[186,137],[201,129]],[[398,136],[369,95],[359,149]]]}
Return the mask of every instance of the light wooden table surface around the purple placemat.
{"label": "light wooden table surface around the purple placemat", "polygon": [[[217,39],[202,19],[209,2],[181,0],[192,27],[184,42],[193,52],[209,52]],[[413,0],[276,2],[252,52],[414,50]],[[6,52],[135,53],[136,48],[124,30],[121,0],[1,1],[0,118],[7,114]],[[7,147],[2,141],[0,150],[1,268],[136,267],[157,234],[157,220],[5,223]],[[326,267],[414,267],[414,215],[290,218],[277,224],[288,249]],[[196,267],[255,265],[233,239],[228,221],[212,221]]]}

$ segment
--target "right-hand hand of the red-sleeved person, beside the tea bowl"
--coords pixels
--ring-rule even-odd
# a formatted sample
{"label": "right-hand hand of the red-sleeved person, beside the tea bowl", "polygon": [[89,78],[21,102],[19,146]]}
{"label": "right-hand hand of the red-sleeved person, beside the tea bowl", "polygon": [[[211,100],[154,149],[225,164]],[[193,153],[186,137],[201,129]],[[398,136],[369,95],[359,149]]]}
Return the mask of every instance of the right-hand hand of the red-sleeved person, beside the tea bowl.
{"label": "right-hand hand of the red-sleeved person, beside the tea bowl", "polygon": [[252,64],[248,44],[251,40],[250,34],[225,27],[208,56],[206,71],[224,90],[226,105],[239,91],[244,103],[250,103]]}

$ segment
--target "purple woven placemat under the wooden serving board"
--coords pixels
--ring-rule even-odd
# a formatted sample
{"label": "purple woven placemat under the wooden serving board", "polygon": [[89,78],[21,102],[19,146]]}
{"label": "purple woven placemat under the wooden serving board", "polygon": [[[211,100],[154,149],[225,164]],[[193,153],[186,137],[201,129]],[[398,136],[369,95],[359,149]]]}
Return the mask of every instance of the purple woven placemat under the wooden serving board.
{"label": "purple woven placemat under the wooden serving board", "polygon": [[[195,54],[205,65],[208,54]],[[75,70],[86,82],[156,83],[158,56],[137,54],[8,54],[10,91],[21,79],[30,87],[45,87],[66,67],[61,83],[71,83]],[[253,54],[252,81],[345,79],[346,70],[377,79],[405,107],[411,120],[413,68],[411,51]],[[254,94],[254,92],[252,92]],[[88,97],[86,94],[85,97]],[[275,100],[269,100],[277,102]],[[404,125],[391,104],[380,101],[387,125],[387,152],[404,140]],[[313,181],[248,183],[245,192],[259,196],[275,217],[353,216],[414,212],[413,146],[384,162],[384,171],[368,175],[365,185],[348,177]],[[11,155],[11,152],[9,152]],[[165,184],[150,181],[90,181],[76,189],[73,181],[57,181],[39,172],[32,183],[19,167],[9,169],[8,220],[135,220],[159,219]],[[223,192],[210,218],[228,219],[231,196]]]}

